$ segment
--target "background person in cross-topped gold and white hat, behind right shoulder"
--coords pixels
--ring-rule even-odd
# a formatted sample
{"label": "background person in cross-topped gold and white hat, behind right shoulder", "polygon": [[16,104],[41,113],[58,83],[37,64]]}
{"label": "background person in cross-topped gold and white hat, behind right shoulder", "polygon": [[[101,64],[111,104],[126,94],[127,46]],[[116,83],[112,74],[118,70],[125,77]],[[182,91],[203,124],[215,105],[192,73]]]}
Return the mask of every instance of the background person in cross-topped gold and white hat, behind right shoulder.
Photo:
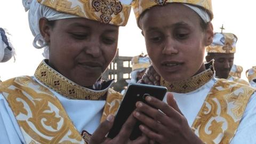
{"label": "background person in cross-topped gold and white hat, behind right shoulder", "polygon": [[217,78],[250,85],[241,78],[229,75],[233,67],[236,42],[237,37],[234,34],[215,33],[212,44],[206,47],[207,55],[205,59],[207,62],[214,59],[214,70]]}

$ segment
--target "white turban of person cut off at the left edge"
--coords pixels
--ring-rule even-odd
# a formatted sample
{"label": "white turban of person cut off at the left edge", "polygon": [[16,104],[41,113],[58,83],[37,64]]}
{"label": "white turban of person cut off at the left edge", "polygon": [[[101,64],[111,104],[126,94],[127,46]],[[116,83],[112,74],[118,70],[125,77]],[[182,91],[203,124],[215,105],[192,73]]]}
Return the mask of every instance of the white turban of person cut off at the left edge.
{"label": "white turban of person cut off at the left edge", "polygon": [[6,62],[10,60],[14,54],[15,51],[10,42],[10,39],[6,36],[5,30],[0,28],[0,62]]}

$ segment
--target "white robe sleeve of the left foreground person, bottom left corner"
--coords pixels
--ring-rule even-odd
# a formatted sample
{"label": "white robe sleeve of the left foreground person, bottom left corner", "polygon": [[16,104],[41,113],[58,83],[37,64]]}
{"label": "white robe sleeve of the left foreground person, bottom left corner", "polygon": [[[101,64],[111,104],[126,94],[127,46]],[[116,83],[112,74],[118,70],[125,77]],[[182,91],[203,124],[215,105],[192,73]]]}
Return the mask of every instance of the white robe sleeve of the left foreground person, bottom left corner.
{"label": "white robe sleeve of the left foreground person, bottom left corner", "polygon": [[18,122],[2,94],[0,94],[0,143],[25,143]]}

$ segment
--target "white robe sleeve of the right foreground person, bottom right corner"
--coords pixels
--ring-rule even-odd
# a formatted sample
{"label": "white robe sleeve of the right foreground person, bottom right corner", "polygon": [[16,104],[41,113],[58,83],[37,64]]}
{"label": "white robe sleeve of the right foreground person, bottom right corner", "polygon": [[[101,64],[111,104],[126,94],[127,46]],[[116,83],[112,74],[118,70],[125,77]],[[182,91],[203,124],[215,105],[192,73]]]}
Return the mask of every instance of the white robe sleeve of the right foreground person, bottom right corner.
{"label": "white robe sleeve of the right foreground person, bottom right corner", "polygon": [[230,144],[251,144],[256,143],[256,93],[254,92],[247,104],[244,115],[238,126],[235,137]]}

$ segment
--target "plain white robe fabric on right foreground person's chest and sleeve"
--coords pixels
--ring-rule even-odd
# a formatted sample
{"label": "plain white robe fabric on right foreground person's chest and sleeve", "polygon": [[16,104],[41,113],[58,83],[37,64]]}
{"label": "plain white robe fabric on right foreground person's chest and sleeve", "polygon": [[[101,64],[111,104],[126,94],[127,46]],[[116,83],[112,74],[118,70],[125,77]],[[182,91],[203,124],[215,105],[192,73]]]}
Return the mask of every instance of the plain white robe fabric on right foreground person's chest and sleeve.
{"label": "plain white robe fabric on right foreground person's chest and sleeve", "polygon": [[[217,79],[213,78],[199,89],[190,93],[173,93],[174,99],[187,118],[188,124],[191,127],[199,110],[203,106],[207,94],[212,89]],[[166,102],[166,97],[164,98]],[[237,132],[231,144],[251,144],[256,143],[255,130],[256,130],[256,94],[254,93],[247,104],[241,123],[238,126]]]}

